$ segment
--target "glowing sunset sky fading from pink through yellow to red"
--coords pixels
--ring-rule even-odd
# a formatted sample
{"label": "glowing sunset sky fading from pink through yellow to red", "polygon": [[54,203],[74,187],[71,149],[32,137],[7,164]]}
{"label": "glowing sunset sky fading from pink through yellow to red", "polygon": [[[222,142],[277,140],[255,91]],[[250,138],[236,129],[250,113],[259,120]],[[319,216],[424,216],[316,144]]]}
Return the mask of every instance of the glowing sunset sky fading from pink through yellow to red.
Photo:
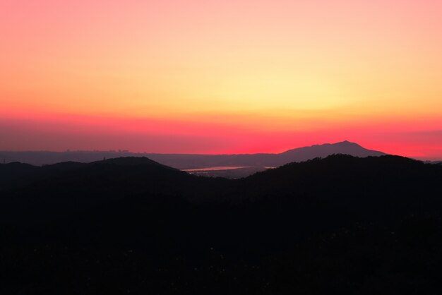
{"label": "glowing sunset sky fading from pink through yellow to red", "polygon": [[440,0],[0,0],[0,150],[442,159]]}

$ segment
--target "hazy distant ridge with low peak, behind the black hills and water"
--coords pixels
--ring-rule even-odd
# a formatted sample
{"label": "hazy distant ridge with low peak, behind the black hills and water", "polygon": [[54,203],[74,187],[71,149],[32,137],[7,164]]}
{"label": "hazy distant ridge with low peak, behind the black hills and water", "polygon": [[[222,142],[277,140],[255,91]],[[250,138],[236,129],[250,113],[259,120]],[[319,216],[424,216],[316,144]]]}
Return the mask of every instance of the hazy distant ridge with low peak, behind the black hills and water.
{"label": "hazy distant ridge with low peak, behind the black hills and water", "polygon": [[192,154],[147,154],[128,151],[115,152],[0,152],[0,159],[6,162],[23,162],[34,165],[58,162],[94,162],[115,157],[148,157],[156,162],[177,169],[198,169],[204,167],[279,167],[289,162],[301,162],[315,157],[333,154],[368,157],[386,155],[383,152],[367,150],[356,143],[326,143],[311,147],[287,150],[280,154],[238,154],[238,155],[192,155]]}

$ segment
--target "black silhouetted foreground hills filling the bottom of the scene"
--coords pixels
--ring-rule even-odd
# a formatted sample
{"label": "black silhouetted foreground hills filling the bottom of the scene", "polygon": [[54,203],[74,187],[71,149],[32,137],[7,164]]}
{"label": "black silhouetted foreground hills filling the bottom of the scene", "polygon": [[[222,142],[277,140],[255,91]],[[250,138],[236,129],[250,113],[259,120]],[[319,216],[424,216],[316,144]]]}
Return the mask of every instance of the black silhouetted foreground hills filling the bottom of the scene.
{"label": "black silhouetted foreground hills filling the bottom of the scene", "polygon": [[442,291],[440,165],[334,155],[227,180],[121,158],[0,175],[2,294]]}

